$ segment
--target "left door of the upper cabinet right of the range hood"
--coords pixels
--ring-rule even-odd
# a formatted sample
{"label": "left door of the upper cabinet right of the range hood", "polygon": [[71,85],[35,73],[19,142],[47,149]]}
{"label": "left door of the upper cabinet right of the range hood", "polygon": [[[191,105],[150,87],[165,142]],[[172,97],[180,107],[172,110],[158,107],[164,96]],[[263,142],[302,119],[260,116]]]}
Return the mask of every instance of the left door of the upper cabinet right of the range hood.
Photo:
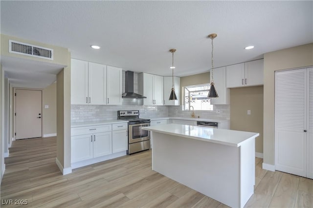
{"label": "left door of the upper cabinet right of the range hood", "polygon": [[140,79],[140,82],[142,83],[140,83],[141,87],[140,89],[138,88],[138,92],[139,94],[147,97],[143,99],[143,104],[144,105],[154,104],[154,98],[153,98],[153,93],[152,93],[153,92],[153,75],[142,73],[140,74],[140,76],[142,76],[142,79]]}

